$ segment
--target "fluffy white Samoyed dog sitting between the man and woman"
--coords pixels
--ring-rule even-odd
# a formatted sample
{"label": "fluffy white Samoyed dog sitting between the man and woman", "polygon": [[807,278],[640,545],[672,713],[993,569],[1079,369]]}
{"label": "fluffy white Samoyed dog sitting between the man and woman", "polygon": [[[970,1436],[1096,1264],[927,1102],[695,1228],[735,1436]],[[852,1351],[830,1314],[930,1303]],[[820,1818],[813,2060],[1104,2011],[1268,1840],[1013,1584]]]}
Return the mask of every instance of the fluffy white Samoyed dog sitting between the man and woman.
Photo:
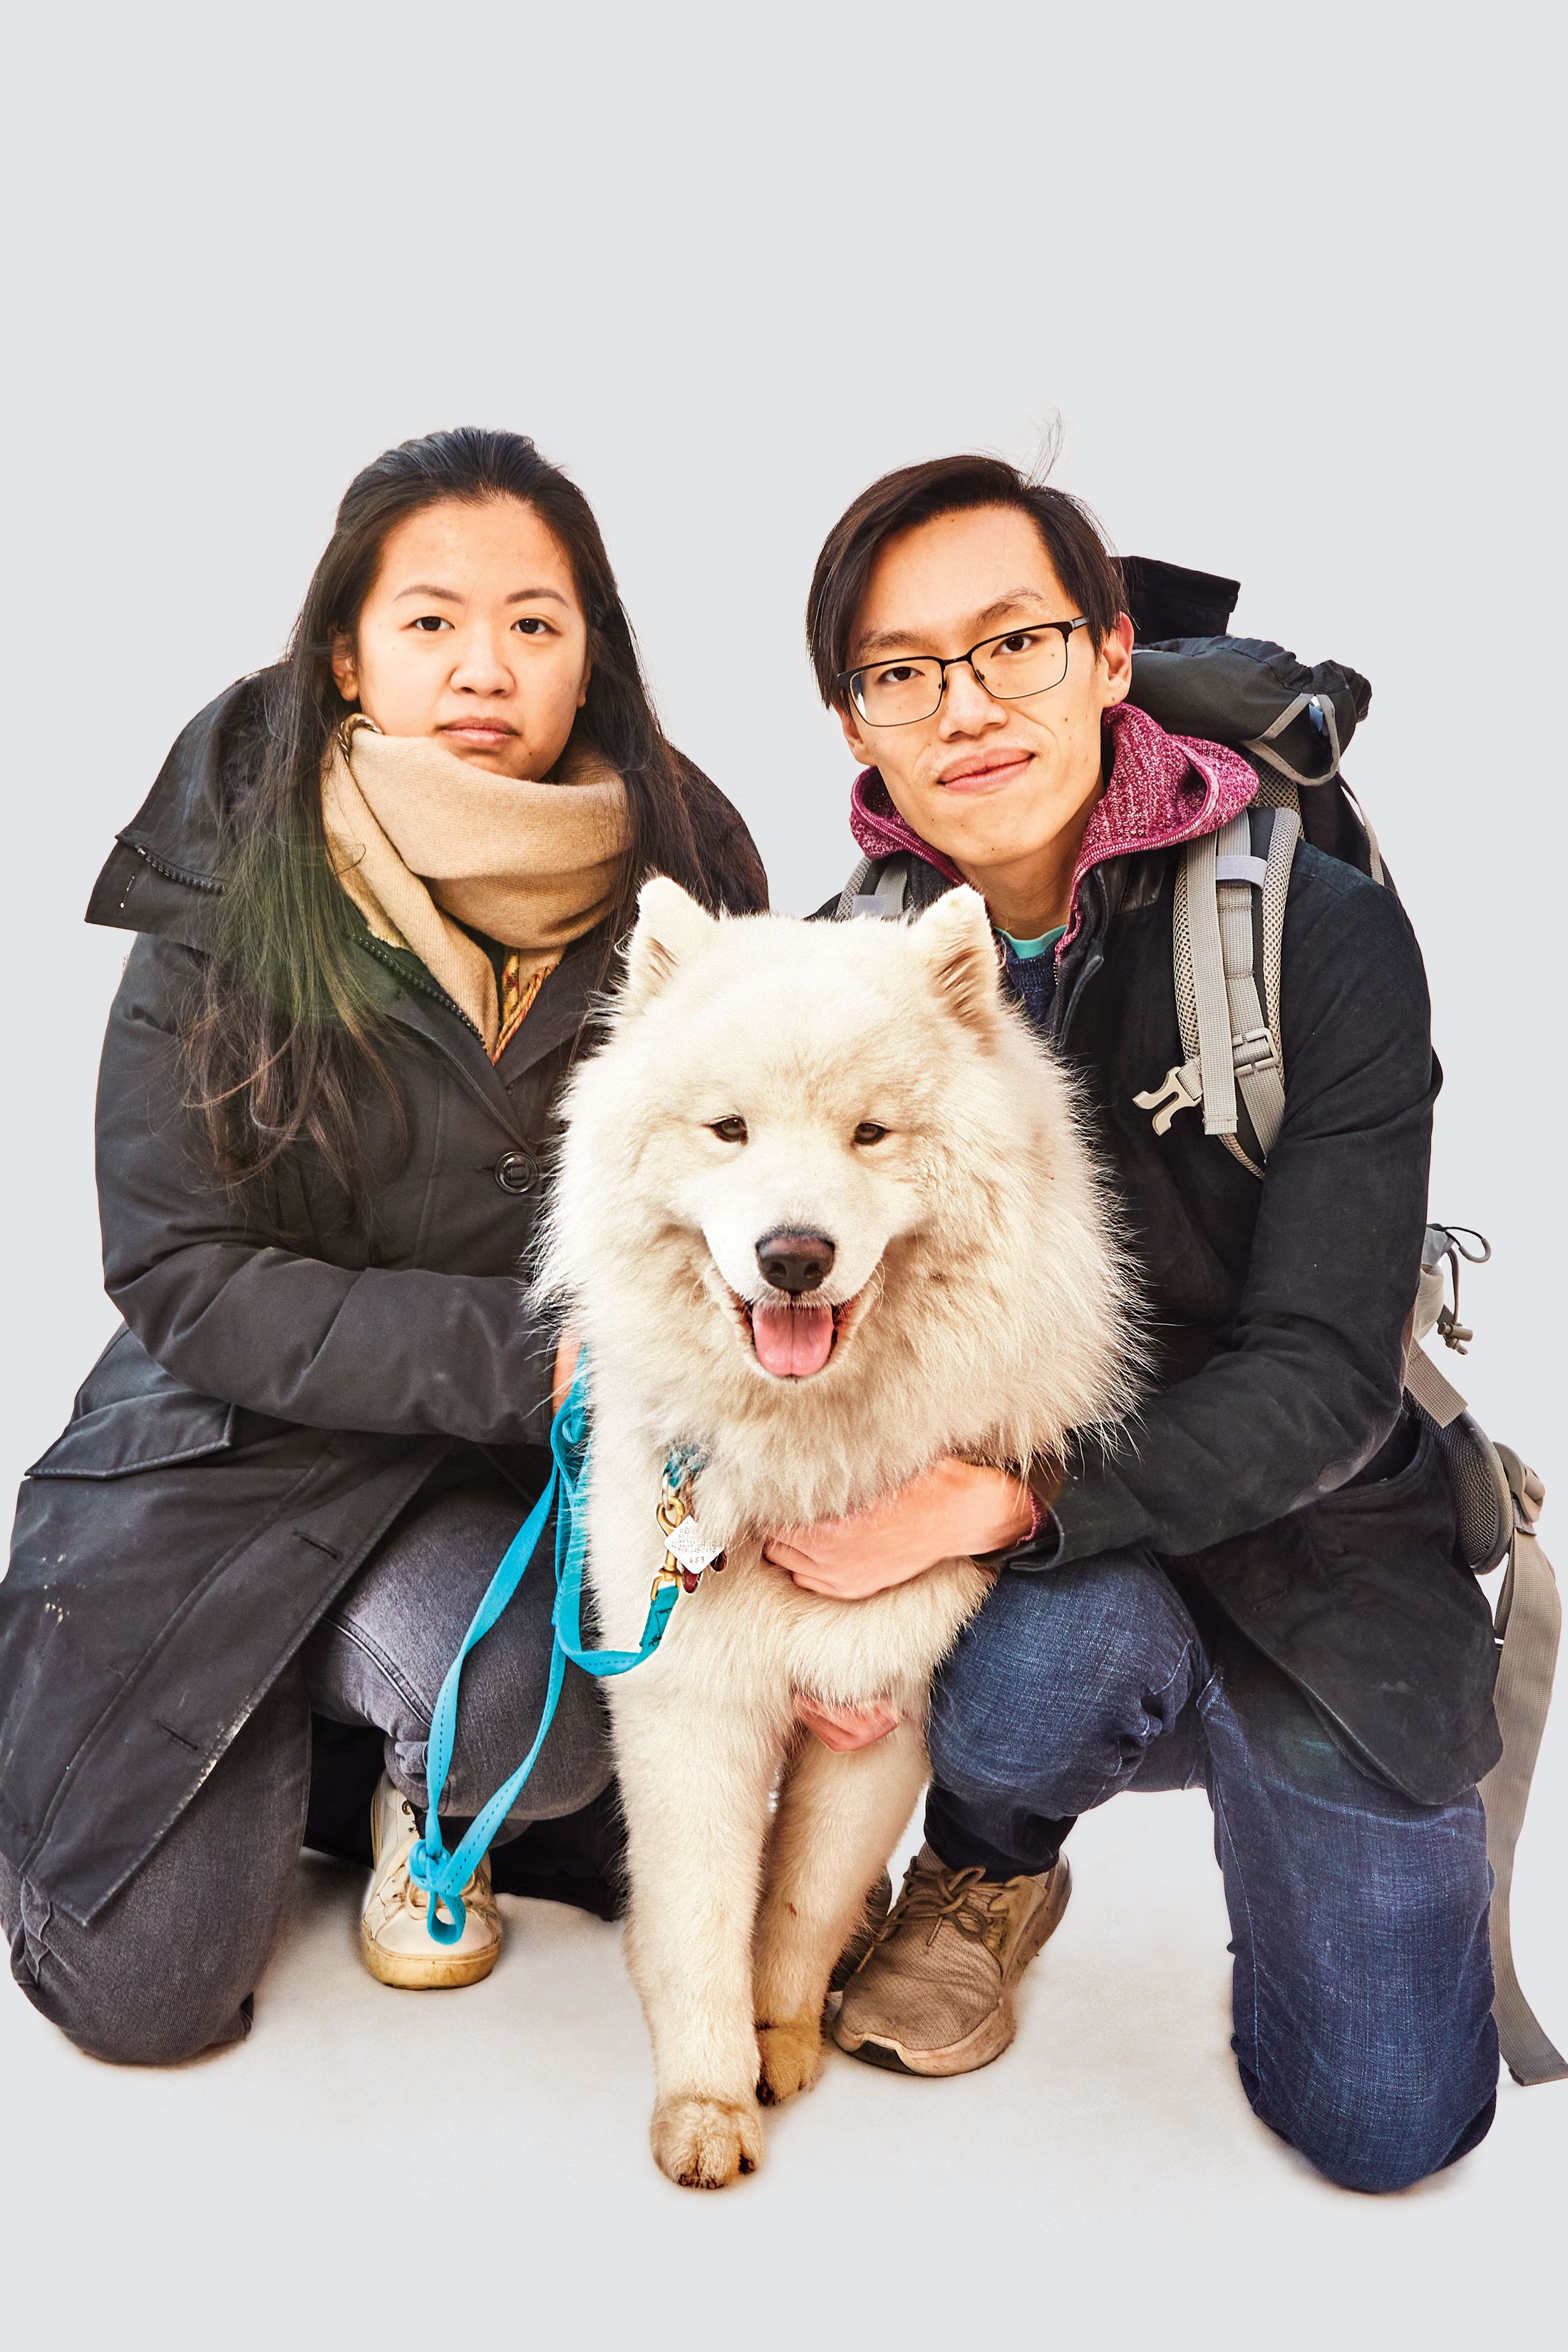
{"label": "fluffy white Samoyed dog sitting between the man and woman", "polygon": [[[1056,1456],[1128,1402],[1107,1202],[978,894],[806,924],[649,882],[609,1042],[567,1094],[543,1294],[588,1348],[597,1639],[637,1646],[672,1461],[701,1465],[689,1559],[724,1550],[607,1684],[654,2154],[724,2187],[757,2169],[759,2105],[816,2074],[830,1973],[926,1773],[931,1675],[990,1583],[945,1559],[837,1602],[762,1545],[943,1454]],[[832,1755],[797,1693],[903,1722]]]}

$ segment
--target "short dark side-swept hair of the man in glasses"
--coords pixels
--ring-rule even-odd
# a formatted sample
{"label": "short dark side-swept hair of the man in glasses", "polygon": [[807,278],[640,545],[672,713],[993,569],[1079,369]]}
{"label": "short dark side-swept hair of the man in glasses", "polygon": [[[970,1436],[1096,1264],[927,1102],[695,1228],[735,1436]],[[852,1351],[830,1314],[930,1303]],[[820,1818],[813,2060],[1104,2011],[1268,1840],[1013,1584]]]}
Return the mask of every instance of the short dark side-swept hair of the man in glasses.
{"label": "short dark side-swept hair of the man in glasses", "polygon": [[806,644],[825,703],[842,703],[837,684],[851,663],[851,640],[865,583],[882,548],[898,532],[976,506],[1013,506],[1039,532],[1067,600],[1088,621],[1095,652],[1126,612],[1117,557],[1088,508],[1065,489],[1030,480],[999,456],[931,456],[900,466],[863,489],[823,541],[806,597]]}

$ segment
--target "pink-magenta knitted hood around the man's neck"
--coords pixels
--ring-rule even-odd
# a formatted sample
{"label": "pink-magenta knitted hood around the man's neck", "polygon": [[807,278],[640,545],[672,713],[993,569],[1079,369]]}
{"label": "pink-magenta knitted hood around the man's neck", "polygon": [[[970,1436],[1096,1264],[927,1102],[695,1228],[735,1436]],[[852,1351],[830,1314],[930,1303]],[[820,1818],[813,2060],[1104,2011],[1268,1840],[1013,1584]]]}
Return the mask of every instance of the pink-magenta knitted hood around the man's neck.
{"label": "pink-magenta knitted hood around the man's neck", "polygon": [[[1114,710],[1107,710],[1105,724],[1112,731],[1117,757],[1079,849],[1072,875],[1072,917],[1063,948],[1079,927],[1079,882],[1091,866],[1131,856],[1135,849],[1171,849],[1175,842],[1194,842],[1204,833],[1218,833],[1246,809],[1258,790],[1258,776],[1241,753],[1227,750],[1222,743],[1204,743],[1199,736],[1166,734],[1147,710],[1117,703]],[[867,858],[912,849],[950,882],[964,880],[952,858],[922,842],[919,833],[903,821],[875,767],[856,776],[849,797],[849,830]]]}

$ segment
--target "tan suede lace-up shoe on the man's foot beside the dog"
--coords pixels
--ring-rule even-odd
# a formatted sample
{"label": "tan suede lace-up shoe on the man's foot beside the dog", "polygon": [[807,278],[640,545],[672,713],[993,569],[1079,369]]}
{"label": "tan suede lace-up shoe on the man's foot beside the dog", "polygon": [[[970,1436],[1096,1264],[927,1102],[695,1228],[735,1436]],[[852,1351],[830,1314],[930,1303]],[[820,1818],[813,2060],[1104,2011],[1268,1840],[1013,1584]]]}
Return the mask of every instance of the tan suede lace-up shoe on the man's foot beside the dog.
{"label": "tan suede lace-up shoe on the man's foot beside the dog", "polygon": [[1018,2032],[1013,1987],[1067,1910],[1072,1875],[983,1879],[922,1846],[844,1987],[832,2039],[903,2074],[969,2074]]}

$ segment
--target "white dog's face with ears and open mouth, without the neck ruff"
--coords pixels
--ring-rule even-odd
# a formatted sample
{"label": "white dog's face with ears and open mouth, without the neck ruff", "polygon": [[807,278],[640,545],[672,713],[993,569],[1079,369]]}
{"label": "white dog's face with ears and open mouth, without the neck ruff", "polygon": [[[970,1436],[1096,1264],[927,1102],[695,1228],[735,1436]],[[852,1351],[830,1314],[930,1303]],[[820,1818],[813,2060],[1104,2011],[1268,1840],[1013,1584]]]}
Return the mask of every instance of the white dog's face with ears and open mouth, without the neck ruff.
{"label": "white dog's face with ears and open mouth, without the neck ruff", "polygon": [[954,1056],[983,1058],[1001,1018],[969,889],[872,943],[722,924],[675,882],[646,884],[611,1047],[637,1065],[637,1174],[701,1237],[759,1378],[811,1381],[849,1345],[889,1249],[931,1221]]}

